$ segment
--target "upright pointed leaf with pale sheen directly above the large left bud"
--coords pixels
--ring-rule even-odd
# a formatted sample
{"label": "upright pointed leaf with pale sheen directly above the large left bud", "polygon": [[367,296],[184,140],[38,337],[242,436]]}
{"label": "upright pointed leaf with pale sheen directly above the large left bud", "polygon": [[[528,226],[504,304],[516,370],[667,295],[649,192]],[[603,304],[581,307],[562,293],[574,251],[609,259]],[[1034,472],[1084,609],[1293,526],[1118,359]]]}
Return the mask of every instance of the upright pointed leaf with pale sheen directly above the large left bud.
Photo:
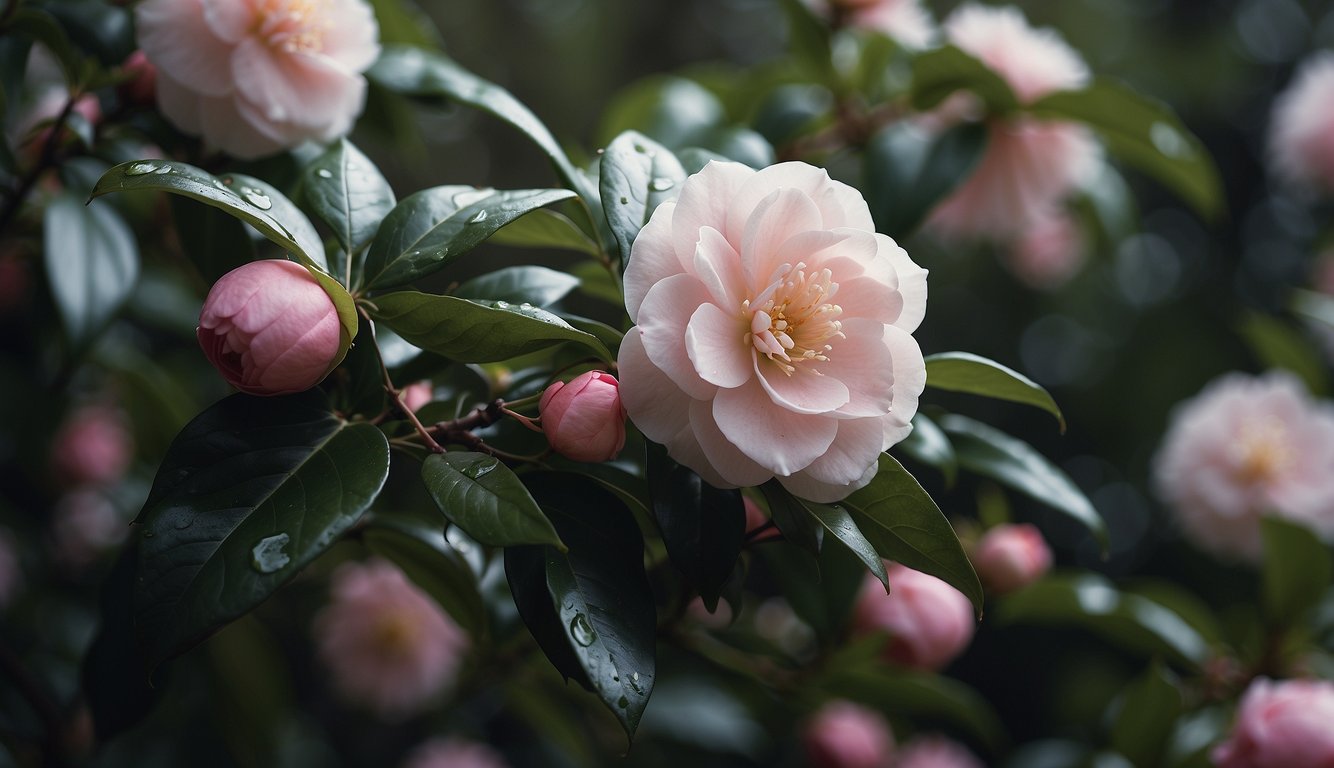
{"label": "upright pointed leaf with pale sheen directly above the large left bud", "polygon": [[[315,215],[329,225],[346,253],[355,255],[375,237],[396,201],[380,169],[347,139],[311,161],[301,181]],[[348,265],[340,264],[338,272],[344,285],[354,284]]]}

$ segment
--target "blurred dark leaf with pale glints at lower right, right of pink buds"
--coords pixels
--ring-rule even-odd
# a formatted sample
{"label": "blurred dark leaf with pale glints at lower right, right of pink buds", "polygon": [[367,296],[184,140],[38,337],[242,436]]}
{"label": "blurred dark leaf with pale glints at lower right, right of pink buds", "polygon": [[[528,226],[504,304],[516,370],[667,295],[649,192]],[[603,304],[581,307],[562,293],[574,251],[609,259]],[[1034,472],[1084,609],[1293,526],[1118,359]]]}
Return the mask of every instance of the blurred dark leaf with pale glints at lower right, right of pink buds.
{"label": "blurred dark leaf with pale glints at lower right, right of pink buds", "polygon": [[1093,573],[1049,576],[1000,600],[996,616],[1005,623],[1082,627],[1129,651],[1197,668],[1210,657],[1209,643],[1174,611]]}

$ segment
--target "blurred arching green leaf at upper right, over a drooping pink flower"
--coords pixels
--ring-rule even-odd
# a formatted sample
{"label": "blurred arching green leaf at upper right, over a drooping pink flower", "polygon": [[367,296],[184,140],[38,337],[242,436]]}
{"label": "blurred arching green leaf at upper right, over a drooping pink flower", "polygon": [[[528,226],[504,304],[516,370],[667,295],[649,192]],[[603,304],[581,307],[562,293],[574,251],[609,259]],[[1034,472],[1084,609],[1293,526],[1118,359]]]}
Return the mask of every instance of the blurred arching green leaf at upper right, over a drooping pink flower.
{"label": "blurred arching green leaf at upper right, over a drooping pink flower", "polygon": [[1095,80],[1083,91],[1045,96],[1029,111],[1087,124],[1114,156],[1158,179],[1205,219],[1222,213],[1223,192],[1213,159],[1167,105],[1119,83]]}

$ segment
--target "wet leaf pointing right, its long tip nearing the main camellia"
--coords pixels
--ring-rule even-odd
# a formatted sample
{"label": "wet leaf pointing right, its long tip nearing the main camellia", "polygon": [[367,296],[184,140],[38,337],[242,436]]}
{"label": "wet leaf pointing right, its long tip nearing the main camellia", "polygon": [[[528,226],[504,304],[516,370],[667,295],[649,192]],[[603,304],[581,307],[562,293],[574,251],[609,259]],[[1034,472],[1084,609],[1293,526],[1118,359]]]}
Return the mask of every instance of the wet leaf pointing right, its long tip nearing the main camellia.
{"label": "wet leaf pointing right, its long tip nearing the main camellia", "polygon": [[567,200],[567,189],[434,187],[399,203],[366,256],[366,285],[404,285],[438,272],[530,211]]}

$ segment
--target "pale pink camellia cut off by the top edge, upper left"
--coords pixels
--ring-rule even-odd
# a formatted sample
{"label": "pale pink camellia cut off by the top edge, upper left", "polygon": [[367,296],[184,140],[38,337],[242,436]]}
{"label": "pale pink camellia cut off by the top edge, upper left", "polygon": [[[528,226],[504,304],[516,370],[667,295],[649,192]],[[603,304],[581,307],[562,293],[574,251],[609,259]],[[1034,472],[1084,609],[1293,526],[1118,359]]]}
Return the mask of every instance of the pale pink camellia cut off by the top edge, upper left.
{"label": "pale pink camellia cut off by the top edge, upper left", "polygon": [[167,119],[244,159],[347,133],[380,53],[364,0],[145,0],[135,23]]}

